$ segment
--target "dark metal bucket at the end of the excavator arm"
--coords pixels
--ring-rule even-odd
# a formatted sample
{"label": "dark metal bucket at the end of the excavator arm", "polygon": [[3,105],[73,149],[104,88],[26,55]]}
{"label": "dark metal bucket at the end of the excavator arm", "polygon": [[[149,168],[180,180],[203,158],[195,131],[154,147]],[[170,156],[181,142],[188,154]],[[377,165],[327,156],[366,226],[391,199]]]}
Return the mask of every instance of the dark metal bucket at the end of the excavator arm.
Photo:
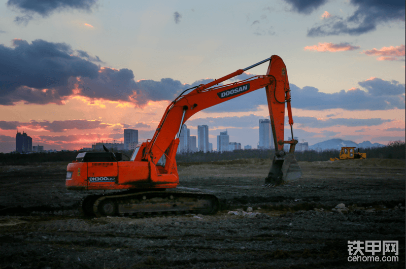
{"label": "dark metal bucket at the end of the excavator arm", "polygon": [[301,178],[301,169],[293,154],[275,156],[264,186],[277,187],[299,178]]}

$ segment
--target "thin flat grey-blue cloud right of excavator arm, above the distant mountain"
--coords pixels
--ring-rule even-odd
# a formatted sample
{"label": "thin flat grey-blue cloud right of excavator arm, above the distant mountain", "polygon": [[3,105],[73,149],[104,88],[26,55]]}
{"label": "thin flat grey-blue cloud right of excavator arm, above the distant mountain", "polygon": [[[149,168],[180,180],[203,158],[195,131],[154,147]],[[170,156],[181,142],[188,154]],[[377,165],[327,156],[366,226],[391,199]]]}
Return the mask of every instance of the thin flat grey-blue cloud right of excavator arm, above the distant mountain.
{"label": "thin flat grey-blue cloud right of excavator arm, above the distant mountain", "polygon": [[[288,121],[288,118],[285,118],[285,122]],[[336,118],[336,119],[327,119],[327,120],[319,120],[316,117],[300,117],[300,116],[293,116],[294,123],[298,124],[302,127],[309,127],[309,128],[326,128],[332,126],[347,126],[347,127],[355,127],[355,126],[376,126],[381,125],[385,122],[390,122],[392,120],[385,120],[381,118],[375,119],[353,119],[353,118]]]}

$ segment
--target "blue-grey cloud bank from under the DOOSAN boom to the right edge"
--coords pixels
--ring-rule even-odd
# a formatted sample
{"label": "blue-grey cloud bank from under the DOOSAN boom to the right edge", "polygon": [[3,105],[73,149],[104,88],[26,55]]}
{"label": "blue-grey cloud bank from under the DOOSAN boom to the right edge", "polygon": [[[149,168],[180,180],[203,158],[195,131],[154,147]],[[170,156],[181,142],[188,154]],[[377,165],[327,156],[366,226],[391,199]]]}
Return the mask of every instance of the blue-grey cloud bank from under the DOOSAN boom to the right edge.
{"label": "blue-grey cloud bank from under the DOOSAN boom to the right edge", "polygon": [[[307,110],[388,110],[404,109],[404,84],[397,81],[386,81],[370,78],[358,83],[365,90],[352,88],[334,93],[320,92],[311,86],[299,88],[290,83],[293,108]],[[267,105],[265,89],[241,95],[228,102],[208,108],[205,112],[257,111],[259,105]],[[330,115],[331,116],[331,115]]]}

